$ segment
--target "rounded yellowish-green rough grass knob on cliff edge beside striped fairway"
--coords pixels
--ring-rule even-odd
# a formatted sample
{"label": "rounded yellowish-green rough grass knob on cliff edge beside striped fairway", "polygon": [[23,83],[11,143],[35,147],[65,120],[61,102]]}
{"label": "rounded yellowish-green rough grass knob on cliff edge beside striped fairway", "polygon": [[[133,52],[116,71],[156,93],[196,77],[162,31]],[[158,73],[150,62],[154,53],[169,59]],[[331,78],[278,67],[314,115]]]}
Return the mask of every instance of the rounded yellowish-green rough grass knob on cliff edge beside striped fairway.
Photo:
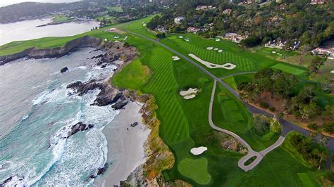
{"label": "rounded yellowish-green rough grass knob on cliff edge beside striped fairway", "polygon": [[140,60],[135,60],[123,67],[121,72],[113,76],[112,84],[122,88],[140,89],[151,77],[151,71]]}

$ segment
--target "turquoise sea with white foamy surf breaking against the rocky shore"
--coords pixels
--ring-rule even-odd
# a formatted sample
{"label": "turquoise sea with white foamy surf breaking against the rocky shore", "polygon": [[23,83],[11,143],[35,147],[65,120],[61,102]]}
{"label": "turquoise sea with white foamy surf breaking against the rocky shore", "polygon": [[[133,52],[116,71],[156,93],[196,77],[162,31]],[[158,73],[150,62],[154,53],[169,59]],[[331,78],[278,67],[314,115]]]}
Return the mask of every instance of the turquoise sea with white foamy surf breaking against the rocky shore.
{"label": "turquoise sea with white foamy surf breaking against the rocky shore", "polygon": [[[80,49],[58,59],[17,60],[0,66],[0,183],[17,175],[27,186],[82,186],[107,157],[104,127],[118,114],[90,105],[99,90],[69,95],[75,81],[106,79],[114,66],[94,66],[99,51]],[[67,66],[69,72],[60,73]],[[70,126],[94,128],[63,139]]]}

